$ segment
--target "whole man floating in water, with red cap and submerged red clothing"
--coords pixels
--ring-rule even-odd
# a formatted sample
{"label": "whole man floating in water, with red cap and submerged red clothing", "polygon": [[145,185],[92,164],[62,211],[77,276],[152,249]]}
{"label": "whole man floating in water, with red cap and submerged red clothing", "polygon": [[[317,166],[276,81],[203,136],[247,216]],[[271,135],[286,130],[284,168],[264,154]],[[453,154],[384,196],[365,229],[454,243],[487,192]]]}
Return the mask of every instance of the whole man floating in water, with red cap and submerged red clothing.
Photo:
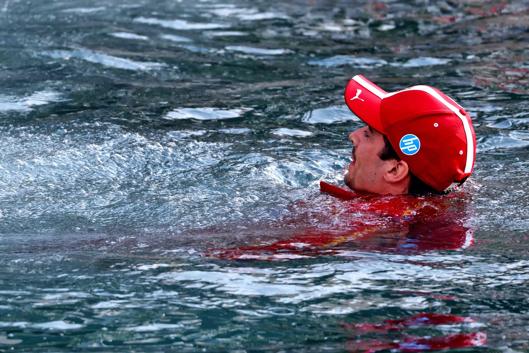
{"label": "whole man floating in water, with red cap and submerged red clothing", "polygon": [[435,88],[388,94],[362,76],[351,79],[345,100],[368,126],[349,136],[353,161],[344,181],[368,193],[321,182],[323,192],[341,200],[320,203],[313,227],[268,245],[215,249],[210,256],[285,260],[345,256],[359,248],[422,252],[472,244],[466,203],[458,201],[465,194],[435,196],[472,173],[476,136],[467,112]]}

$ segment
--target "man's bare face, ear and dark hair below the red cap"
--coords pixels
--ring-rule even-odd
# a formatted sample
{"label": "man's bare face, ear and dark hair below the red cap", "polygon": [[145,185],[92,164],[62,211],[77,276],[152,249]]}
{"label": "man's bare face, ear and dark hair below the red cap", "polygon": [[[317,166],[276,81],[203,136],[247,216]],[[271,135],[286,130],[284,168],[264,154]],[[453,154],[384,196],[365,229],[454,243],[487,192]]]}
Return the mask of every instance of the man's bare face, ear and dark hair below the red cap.
{"label": "man's bare face, ear and dark hair below the red cap", "polygon": [[349,188],[393,195],[436,192],[409,171],[386,135],[365,126],[352,132],[349,140],[354,144],[353,161],[344,177]]}

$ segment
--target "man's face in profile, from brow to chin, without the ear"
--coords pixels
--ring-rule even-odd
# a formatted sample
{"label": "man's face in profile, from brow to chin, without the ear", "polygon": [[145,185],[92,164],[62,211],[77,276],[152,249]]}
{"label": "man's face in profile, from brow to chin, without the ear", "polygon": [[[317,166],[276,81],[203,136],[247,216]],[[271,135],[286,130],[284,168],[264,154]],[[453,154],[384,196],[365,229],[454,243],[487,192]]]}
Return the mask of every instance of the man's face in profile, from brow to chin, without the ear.
{"label": "man's face in profile, from brow to chin, without the ear", "polygon": [[387,182],[382,174],[384,161],[378,153],[384,148],[384,135],[366,126],[352,132],[349,140],[354,144],[351,152],[353,161],[345,174],[345,184],[353,190],[382,193]]}

